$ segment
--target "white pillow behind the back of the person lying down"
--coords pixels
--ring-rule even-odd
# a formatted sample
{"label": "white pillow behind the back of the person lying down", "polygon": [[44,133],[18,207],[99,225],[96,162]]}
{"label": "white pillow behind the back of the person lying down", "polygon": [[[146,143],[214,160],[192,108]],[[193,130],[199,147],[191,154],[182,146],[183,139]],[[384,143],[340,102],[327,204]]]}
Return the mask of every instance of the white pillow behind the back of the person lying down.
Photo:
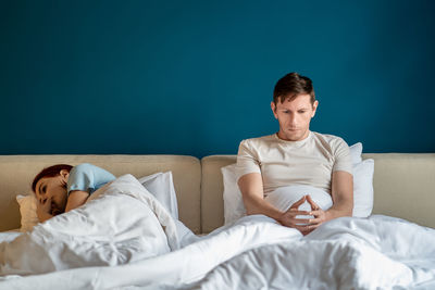
{"label": "white pillow behind the back of the person lying down", "polygon": [[171,213],[172,217],[178,219],[178,203],[172,179],[172,172],[145,176],[139,178],[139,182],[163,204]]}

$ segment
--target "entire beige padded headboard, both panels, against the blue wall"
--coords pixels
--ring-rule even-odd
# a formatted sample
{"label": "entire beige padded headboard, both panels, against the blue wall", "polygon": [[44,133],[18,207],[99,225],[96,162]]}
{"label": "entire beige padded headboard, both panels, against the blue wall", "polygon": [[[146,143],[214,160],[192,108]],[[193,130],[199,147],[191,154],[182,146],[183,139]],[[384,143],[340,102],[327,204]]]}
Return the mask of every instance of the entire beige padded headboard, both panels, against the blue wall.
{"label": "entire beige padded headboard, both panels, against the blue wall", "polygon": [[[363,154],[374,159],[374,214],[402,217],[435,228],[435,154]],[[20,227],[16,194],[30,192],[34,176],[44,167],[92,163],[114,175],[142,177],[172,171],[182,222],[196,234],[223,225],[221,167],[235,155],[0,155],[0,231]]]}

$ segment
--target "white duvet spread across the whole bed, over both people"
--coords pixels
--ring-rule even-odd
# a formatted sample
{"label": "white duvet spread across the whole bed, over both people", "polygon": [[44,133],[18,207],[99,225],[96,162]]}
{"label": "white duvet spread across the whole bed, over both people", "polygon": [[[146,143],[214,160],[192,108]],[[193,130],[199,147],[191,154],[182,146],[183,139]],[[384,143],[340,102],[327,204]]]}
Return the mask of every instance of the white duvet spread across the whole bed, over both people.
{"label": "white duvet spread across the whole bed, over both people", "polygon": [[435,286],[435,230],[402,219],[337,218],[302,237],[258,215],[198,238],[130,175],[96,193],[80,209],[5,238],[0,289]]}

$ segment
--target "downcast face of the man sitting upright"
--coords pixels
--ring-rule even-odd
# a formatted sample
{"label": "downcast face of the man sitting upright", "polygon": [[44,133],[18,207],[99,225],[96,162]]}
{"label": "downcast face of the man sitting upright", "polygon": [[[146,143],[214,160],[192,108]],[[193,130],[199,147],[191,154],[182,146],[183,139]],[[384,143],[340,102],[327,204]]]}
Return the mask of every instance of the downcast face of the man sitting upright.
{"label": "downcast face of the man sitting upright", "polygon": [[310,94],[299,94],[293,101],[271,102],[273,115],[279,123],[278,137],[287,141],[300,141],[308,137],[311,118],[319,102],[311,104]]}

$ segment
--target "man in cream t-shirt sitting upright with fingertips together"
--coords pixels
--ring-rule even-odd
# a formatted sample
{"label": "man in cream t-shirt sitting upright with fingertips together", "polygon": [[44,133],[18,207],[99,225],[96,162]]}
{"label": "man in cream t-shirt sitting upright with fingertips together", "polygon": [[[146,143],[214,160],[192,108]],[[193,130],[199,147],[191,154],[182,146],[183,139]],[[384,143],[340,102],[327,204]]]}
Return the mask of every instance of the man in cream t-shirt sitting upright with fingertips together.
{"label": "man in cream t-shirt sitting upright with fingertips together", "polygon": [[[351,216],[353,207],[349,147],[339,137],[310,130],[318,105],[311,79],[287,74],[276,83],[271,102],[279,131],[241,141],[237,155],[238,186],[247,214],[268,215],[303,235],[330,219]],[[332,196],[333,206],[323,211],[308,194],[283,212],[264,200],[273,190],[290,185],[323,189]],[[306,201],[311,211],[299,211]]]}

